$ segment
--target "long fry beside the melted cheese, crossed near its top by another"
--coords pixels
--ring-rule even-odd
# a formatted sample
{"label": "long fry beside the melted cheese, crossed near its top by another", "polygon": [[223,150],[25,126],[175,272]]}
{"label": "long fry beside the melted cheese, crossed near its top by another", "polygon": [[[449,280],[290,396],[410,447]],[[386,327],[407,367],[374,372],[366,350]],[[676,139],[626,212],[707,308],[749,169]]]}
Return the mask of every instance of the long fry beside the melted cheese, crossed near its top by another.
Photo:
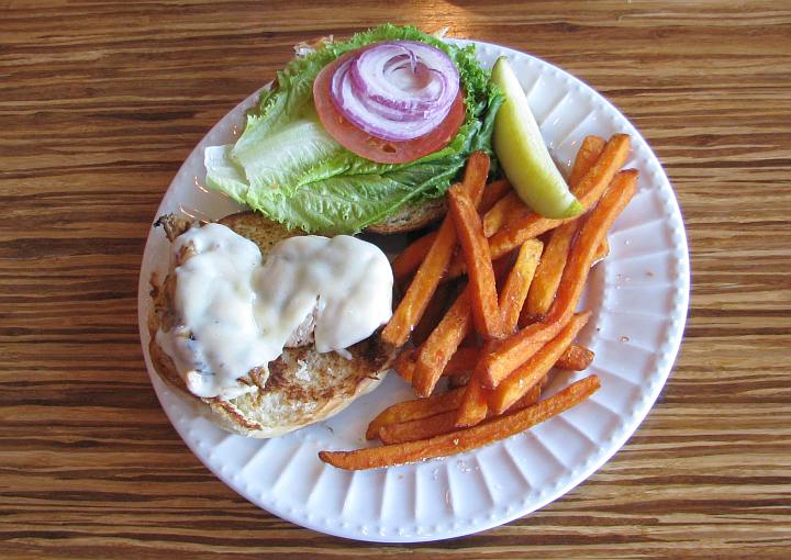
{"label": "long fry beside the melted cheese, crossed near its top by another", "polygon": [[[489,156],[482,152],[474,152],[467,160],[465,169],[464,191],[475,204],[480,202],[486,178],[489,173]],[[454,247],[456,229],[450,216],[445,216],[428,254],[417,268],[406,293],[396,309],[390,322],[381,333],[383,343],[401,347],[406,343],[414,326],[420,322],[428,300],[434,295],[441,278],[445,273]]]}

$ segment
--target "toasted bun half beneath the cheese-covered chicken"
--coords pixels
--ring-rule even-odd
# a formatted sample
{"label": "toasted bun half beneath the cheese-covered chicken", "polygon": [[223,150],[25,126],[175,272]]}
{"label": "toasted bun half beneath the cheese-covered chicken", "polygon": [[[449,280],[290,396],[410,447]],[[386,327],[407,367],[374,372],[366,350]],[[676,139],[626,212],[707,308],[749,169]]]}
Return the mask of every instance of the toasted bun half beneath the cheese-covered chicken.
{"label": "toasted bun half beneath the cheese-covered chicken", "polygon": [[[265,255],[278,242],[297,235],[252,212],[233,214],[220,223],[258,244]],[[152,278],[155,311],[148,317],[148,350],[154,368],[168,385],[198,403],[214,424],[234,434],[276,437],[328,418],[374,390],[391,361],[392,352],[382,347],[378,333],[348,348],[348,359],[336,352],[319,354],[312,346],[287,348],[268,365],[268,376],[254,370],[242,380],[254,385],[253,392],[230,400],[198,397],[156,343],[161,318],[169,311],[168,283],[166,279],[159,285]]]}

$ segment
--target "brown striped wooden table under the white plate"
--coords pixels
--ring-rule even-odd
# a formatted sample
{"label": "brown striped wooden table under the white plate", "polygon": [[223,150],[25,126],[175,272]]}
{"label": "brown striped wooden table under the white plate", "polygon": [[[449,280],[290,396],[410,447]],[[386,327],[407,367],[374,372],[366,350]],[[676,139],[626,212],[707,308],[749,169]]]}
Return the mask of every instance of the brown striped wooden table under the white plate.
{"label": "brown striped wooden table under the white plate", "polygon": [[[0,556],[788,558],[789,2],[3,2]],[[307,4],[307,3],[305,3]],[[381,21],[533,53],[611,99],[676,188],[689,324],[628,444],[542,511],[379,547],[236,495],[160,410],[137,337],[159,199],[299,41]]]}

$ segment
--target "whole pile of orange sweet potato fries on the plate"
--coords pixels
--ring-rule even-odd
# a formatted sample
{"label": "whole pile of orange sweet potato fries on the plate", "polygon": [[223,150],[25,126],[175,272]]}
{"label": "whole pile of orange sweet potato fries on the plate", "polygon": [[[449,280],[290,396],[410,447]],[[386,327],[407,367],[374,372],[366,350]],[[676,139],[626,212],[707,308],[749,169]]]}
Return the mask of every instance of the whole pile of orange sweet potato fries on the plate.
{"label": "whole pile of orange sweet potato fries on the plate", "polygon": [[[385,445],[319,457],[348,470],[446,457],[523,432],[599,389],[592,374],[539,401],[554,367],[581,371],[593,360],[573,341],[591,314],[576,309],[634,195],[637,171],[621,170],[628,153],[625,134],[584,138],[569,184],[586,212],[565,220],[531,212],[504,180],[486,184],[489,158],[472,154],[439,228],[393,261],[408,288],[381,337],[400,349],[394,369],[420,397],[370,423],[367,438]],[[449,390],[436,392],[443,377]]]}

